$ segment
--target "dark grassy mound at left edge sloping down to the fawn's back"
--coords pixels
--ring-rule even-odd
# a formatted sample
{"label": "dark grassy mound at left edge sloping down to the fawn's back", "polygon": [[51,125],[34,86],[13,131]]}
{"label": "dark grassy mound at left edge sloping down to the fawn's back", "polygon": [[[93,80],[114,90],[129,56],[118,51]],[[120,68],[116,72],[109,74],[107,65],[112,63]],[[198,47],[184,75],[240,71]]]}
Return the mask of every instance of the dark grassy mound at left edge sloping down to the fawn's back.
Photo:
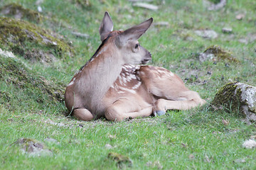
{"label": "dark grassy mound at left edge sloping down to the fawn's back", "polygon": [[0,104],[11,110],[63,101],[65,85],[53,83],[0,49]]}

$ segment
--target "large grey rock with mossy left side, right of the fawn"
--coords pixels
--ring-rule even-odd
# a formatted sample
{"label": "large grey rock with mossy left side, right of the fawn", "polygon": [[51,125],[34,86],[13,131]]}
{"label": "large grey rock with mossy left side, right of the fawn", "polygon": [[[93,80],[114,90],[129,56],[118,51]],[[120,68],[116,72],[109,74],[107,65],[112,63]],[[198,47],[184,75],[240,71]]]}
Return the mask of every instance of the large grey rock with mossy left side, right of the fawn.
{"label": "large grey rock with mossy left side, right of the fawn", "polygon": [[247,120],[256,121],[256,87],[239,82],[225,84],[215,94],[211,105],[215,109],[238,111]]}

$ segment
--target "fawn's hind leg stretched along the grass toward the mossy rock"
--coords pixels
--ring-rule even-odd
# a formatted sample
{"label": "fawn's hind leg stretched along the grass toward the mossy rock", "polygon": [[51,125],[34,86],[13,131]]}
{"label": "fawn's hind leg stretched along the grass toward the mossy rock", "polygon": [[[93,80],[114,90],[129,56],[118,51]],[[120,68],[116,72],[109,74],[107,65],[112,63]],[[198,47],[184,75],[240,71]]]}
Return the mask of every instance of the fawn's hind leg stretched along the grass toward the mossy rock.
{"label": "fawn's hind leg stretched along the grass toward the mossy rock", "polygon": [[154,103],[154,115],[164,115],[167,110],[188,110],[206,103],[195,91],[185,91],[182,94],[177,101],[158,99]]}

